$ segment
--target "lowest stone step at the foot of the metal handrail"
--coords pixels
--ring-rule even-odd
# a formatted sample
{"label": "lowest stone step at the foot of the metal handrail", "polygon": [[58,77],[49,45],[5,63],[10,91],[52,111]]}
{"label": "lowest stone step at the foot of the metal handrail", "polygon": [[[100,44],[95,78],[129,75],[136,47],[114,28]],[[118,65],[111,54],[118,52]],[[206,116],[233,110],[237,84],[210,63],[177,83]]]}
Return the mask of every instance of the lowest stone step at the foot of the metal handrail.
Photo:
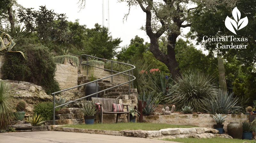
{"label": "lowest stone step at the foot of the metal handrail", "polygon": [[[62,124],[85,124],[84,119],[64,119],[64,120],[55,120],[56,125]],[[53,125],[53,120],[44,121],[44,125]]]}

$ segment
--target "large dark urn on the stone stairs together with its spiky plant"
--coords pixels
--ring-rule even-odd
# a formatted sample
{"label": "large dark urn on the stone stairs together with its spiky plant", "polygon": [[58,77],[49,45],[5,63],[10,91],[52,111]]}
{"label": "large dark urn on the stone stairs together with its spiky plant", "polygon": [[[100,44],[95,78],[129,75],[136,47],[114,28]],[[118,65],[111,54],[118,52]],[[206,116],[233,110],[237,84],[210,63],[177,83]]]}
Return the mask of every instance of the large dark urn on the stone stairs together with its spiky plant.
{"label": "large dark urn on the stone stairs together with its spiky plant", "polygon": [[[95,68],[94,67],[90,67],[90,70],[88,70],[88,75],[87,75],[87,78],[91,81],[94,81],[94,80],[97,80],[98,79],[98,75],[99,75],[99,72],[96,72],[95,71]],[[96,92],[99,92],[100,91],[100,85],[96,82],[93,82],[93,83],[89,83],[85,86],[85,96],[88,96],[88,95],[91,95],[91,94],[94,94]],[[86,100],[91,100],[92,97],[99,97],[100,94],[94,94],[90,97],[87,97]]]}

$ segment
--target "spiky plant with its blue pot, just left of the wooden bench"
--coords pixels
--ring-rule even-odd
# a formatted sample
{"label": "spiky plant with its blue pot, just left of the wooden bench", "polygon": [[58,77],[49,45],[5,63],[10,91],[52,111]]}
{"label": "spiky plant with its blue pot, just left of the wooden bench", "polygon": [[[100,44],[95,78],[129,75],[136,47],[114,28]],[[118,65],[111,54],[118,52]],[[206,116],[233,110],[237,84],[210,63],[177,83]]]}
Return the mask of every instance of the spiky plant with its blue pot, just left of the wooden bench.
{"label": "spiky plant with its blue pot, just left of the wooden bench", "polygon": [[80,108],[80,109],[84,114],[85,124],[93,124],[95,119],[94,114],[97,112],[94,102],[83,101],[83,108]]}

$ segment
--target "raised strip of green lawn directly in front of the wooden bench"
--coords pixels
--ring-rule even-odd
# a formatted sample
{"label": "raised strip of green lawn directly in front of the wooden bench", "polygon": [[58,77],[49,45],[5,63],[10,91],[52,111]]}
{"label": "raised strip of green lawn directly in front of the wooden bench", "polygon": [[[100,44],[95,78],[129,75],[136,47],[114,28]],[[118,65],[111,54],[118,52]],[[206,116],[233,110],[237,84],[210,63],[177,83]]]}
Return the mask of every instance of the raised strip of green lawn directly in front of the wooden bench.
{"label": "raised strip of green lawn directly in front of the wooden bench", "polygon": [[113,123],[113,124],[72,124],[64,125],[62,127],[80,128],[80,129],[97,129],[97,130],[145,130],[158,131],[165,128],[192,128],[198,126],[192,125],[172,125],[172,124],[157,124],[157,123]]}

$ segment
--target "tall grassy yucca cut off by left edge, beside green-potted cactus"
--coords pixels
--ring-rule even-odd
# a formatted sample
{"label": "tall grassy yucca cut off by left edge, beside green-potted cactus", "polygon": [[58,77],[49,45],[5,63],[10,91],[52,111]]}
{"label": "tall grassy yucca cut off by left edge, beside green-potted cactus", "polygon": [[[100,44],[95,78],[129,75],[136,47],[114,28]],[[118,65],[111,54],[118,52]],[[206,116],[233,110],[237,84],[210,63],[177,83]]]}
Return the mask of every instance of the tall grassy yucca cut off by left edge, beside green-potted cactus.
{"label": "tall grassy yucca cut off by left edge, beside green-potted cactus", "polygon": [[17,112],[13,112],[14,106],[10,103],[13,93],[14,89],[9,84],[0,81],[0,129],[4,129],[17,118]]}

